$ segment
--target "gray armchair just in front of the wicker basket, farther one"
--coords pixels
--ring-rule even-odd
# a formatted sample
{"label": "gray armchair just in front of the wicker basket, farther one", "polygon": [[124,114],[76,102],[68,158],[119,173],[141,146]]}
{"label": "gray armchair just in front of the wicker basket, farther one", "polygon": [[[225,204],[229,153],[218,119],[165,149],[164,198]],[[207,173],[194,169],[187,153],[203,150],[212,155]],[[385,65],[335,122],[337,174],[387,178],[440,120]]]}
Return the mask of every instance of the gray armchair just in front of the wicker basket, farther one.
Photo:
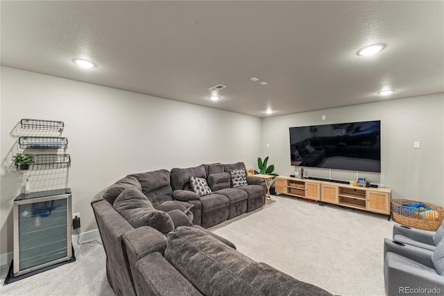
{"label": "gray armchair just in front of the wicker basket, farther one", "polygon": [[407,245],[421,247],[434,251],[444,238],[444,221],[441,227],[435,232],[410,228],[404,225],[395,224],[393,226],[393,240]]}

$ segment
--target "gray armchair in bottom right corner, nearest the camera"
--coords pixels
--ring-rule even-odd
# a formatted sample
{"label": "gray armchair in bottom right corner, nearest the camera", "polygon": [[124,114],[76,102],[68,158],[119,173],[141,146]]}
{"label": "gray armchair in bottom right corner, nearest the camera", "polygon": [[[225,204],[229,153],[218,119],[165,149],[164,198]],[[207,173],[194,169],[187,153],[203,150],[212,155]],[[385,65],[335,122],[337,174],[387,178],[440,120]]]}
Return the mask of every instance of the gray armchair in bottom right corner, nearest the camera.
{"label": "gray armchair in bottom right corner, nearest the camera", "polygon": [[435,251],[384,240],[386,295],[427,295],[444,291],[444,242]]}

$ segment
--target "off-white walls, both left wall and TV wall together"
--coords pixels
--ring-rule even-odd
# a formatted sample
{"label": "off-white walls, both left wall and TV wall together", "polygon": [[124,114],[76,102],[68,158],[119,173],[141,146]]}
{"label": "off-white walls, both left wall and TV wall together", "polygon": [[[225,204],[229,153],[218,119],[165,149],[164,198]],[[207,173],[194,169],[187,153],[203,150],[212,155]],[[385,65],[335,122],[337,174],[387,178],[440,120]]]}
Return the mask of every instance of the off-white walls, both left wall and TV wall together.
{"label": "off-white walls, both left wall and TV wall together", "polygon": [[[257,117],[1,67],[0,254],[12,252],[12,201],[23,192],[24,172],[10,158],[19,151],[22,118],[65,122],[69,170],[27,172],[33,190],[70,187],[81,232],[96,229],[89,200],[126,174],[201,163],[270,156],[278,174],[291,174],[289,127],[381,120],[382,173],[363,173],[392,188],[393,198],[444,206],[444,94],[382,101],[307,113]],[[321,115],[327,120],[322,121]],[[238,127],[242,126],[241,131]],[[196,130],[199,130],[196,132]],[[196,136],[200,133],[202,136]],[[413,141],[421,148],[413,149]],[[270,147],[266,148],[269,143]],[[59,151],[62,153],[63,151]],[[330,170],[307,169],[330,177]],[[332,179],[354,180],[356,172],[331,171]]]}

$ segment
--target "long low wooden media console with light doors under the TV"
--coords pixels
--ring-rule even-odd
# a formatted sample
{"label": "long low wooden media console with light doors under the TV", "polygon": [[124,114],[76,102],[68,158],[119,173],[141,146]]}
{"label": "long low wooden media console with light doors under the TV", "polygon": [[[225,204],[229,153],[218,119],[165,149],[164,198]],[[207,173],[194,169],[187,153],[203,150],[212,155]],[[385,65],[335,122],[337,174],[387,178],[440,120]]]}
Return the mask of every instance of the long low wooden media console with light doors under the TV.
{"label": "long low wooden media console with light doors under the TV", "polygon": [[277,176],[275,191],[322,203],[384,214],[390,219],[391,189],[388,188],[364,188],[328,181]]}

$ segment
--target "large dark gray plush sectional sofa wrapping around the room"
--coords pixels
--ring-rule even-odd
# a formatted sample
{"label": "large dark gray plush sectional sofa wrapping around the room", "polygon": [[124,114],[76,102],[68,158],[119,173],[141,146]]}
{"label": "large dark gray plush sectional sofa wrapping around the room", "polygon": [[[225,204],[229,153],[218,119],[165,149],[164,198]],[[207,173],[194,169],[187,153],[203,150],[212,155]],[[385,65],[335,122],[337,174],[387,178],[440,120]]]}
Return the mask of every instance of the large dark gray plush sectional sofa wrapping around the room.
{"label": "large dark gray plush sectional sofa wrapping around the room", "polygon": [[[330,295],[207,231],[264,205],[264,181],[250,176],[234,188],[236,170],[246,172],[244,163],[130,174],[94,196],[116,295]],[[191,177],[204,179],[212,193],[191,190]]]}

